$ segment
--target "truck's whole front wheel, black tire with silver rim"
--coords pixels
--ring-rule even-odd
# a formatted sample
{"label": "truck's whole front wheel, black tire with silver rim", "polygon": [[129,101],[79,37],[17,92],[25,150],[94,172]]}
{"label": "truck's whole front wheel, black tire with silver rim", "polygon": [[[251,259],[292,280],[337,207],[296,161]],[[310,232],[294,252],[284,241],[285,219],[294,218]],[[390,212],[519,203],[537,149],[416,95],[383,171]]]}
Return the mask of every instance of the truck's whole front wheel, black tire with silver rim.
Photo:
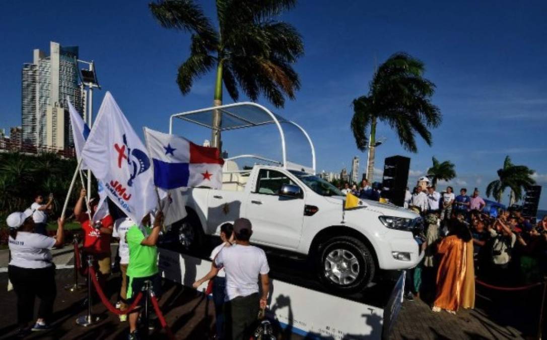
{"label": "truck's whole front wheel, black tire with silver rim", "polygon": [[336,236],[319,244],[317,273],[323,285],[340,294],[366,288],[374,278],[376,265],[369,248],[351,236]]}

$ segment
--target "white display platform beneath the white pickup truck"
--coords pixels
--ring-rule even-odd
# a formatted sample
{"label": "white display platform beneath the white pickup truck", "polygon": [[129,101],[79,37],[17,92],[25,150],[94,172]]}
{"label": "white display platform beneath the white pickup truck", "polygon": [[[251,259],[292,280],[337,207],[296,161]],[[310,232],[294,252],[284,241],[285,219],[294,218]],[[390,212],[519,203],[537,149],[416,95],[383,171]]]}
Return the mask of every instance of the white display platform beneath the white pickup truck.
{"label": "white display platform beneath the white pickup truck", "polygon": [[[159,254],[162,275],[185,286],[191,287],[196,278],[205,276],[211,269],[211,261],[161,248]],[[273,279],[266,315],[283,329],[311,339],[380,339],[383,320],[388,320],[389,325],[384,328],[389,329],[397,316],[403,281],[399,279],[392,297],[386,301],[389,306],[385,315],[382,308]]]}

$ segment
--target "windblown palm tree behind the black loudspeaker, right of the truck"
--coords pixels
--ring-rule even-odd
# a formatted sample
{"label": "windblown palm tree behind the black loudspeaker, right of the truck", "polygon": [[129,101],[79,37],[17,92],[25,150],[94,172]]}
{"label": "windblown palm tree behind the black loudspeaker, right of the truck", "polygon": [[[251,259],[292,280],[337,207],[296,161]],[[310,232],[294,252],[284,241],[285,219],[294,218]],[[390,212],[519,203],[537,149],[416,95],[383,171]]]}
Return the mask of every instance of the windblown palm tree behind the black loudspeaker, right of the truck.
{"label": "windblown palm tree behind the black loudspeaker, right of the truck", "polygon": [[[368,180],[374,174],[376,124],[389,125],[408,151],[417,152],[416,133],[432,144],[429,128],[439,126],[442,116],[430,101],[435,84],[423,78],[424,65],[405,53],[389,57],[374,74],[368,95],[353,99],[351,130],[357,148],[369,149]],[[370,127],[370,137],[366,130]]]}

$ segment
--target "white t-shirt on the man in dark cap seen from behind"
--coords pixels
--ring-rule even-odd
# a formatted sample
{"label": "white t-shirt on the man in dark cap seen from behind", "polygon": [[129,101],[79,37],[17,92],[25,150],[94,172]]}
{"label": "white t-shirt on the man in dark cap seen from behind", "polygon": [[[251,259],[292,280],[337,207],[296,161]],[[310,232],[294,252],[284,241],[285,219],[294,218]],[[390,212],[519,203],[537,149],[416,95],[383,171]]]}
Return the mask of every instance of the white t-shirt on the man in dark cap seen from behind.
{"label": "white t-shirt on the man in dark cap seen from behind", "polygon": [[226,301],[258,293],[258,274],[270,272],[264,250],[253,245],[223,248],[214,262],[226,271]]}

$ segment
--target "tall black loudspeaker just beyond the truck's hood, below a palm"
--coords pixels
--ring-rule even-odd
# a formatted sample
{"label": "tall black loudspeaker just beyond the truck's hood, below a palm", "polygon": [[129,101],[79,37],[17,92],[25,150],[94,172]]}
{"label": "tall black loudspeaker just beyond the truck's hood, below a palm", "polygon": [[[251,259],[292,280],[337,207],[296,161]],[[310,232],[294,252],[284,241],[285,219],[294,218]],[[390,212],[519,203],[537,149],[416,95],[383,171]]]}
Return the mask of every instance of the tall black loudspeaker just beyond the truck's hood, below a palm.
{"label": "tall black loudspeaker just beyond the truck's hood, below a palm", "polygon": [[405,201],[406,183],[409,180],[410,158],[387,157],[383,165],[382,195],[389,202],[402,207]]}

